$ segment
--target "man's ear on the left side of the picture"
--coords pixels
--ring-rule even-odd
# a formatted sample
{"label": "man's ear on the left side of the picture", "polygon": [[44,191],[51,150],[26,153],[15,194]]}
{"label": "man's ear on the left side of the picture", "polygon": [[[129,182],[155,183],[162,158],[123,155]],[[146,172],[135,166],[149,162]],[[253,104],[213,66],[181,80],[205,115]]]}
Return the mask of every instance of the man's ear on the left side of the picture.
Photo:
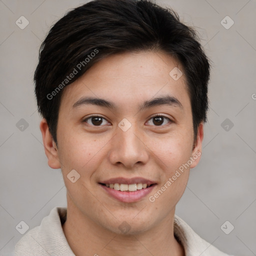
{"label": "man's ear on the left side of the picture", "polygon": [[40,121],[39,126],[42,133],[44,152],[48,158],[48,165],[53,169],[59,169],[60,162],[58,159],[57,146],[50,134],[49,127],[45,118]]}

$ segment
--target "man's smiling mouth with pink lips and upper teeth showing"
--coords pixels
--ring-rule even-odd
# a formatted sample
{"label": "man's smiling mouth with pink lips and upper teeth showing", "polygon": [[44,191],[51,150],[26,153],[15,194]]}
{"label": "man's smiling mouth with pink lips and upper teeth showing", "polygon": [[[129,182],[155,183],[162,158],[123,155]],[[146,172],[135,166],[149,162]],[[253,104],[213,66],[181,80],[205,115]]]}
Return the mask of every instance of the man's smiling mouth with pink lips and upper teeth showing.
{"label": "man's smiling mouth with pink lips and upper teeth showing", "polygon": [[156,182],[144,178],[112,178],[98,184],[111,197],[121,202],[136,202],[152,191]]}

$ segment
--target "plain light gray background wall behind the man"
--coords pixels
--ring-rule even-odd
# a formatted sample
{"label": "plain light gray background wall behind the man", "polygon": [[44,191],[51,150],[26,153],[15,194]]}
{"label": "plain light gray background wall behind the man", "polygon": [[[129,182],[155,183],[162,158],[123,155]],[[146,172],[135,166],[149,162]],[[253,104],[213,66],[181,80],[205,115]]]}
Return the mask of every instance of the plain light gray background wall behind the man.
{"label": "plain light gray background wall behind the man", "polygon": [[[32,228],[54,206],[66,205],[60,169],[51,169],[44,154],[32,76],[50,26],[84,2],[0,0],[0,255],[13,251],[21,220]],[[176,214],[220,250],[256,255],[256,1],[156,2],[197,27],[213,61],[202,158],[191,169]],[[15,24],[21,15],[29,21],[24,29]],[[221,24],[227,15],[234,21],[229,29]],[[16,126],[21,118],[28,123],[23,131]],[[220,228],[226,220],[234,226],[229,234]]]}

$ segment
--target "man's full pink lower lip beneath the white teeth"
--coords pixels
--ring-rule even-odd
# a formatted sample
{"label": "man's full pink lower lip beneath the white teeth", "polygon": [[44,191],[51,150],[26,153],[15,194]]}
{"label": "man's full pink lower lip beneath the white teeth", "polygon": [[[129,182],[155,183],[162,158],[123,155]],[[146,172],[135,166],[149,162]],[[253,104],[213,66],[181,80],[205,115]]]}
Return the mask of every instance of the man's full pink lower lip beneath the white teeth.
{"label": "man's full pink lower lip beneath the white teeth", "polygon": [[141,200],[144,196],[149,194],[152,189],[154,188],[154,185],[151,185],[147,188],[142,188],[136,191],[120,191],[115,190],[113,188],[104,186],[99,184],[109,195],[114,197],[115,199],[121,201],[121,202],[137,202]]}

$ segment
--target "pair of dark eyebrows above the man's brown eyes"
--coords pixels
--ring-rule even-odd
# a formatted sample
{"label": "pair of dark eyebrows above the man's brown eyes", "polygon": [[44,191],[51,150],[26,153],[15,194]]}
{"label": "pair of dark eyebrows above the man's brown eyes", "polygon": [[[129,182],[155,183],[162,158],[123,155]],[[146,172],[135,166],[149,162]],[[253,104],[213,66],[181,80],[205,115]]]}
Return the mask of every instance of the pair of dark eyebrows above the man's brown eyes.
{"label": "pair of dark eyebrows above the man's brown eyes", "polygon": [[[102,106],[102,107],[106,107],[109,109],[117,109],[117,105],[111,101],[108,101],[106,99],[103,98],[96,98],[96,97],[82,97],[79,100],[77,100],[73,105],[72,108],[78,108],[80,106],[84,106],[84,105],[98,105],[98,106]],[[160,96],[160,97],[155,97],[153,99],[150,100],[145,100],[140,106],[139,106],[139,111],[144,110],[145,108],[149,108],[149,107],[153,107],[153,106],[160,106],[160,105],[168,105],[168,106],[176,106],[179,107],[181,109],[183,109],[182,104],[180,103],[180,101],[170,95],[164,95],[164,96]]]}

